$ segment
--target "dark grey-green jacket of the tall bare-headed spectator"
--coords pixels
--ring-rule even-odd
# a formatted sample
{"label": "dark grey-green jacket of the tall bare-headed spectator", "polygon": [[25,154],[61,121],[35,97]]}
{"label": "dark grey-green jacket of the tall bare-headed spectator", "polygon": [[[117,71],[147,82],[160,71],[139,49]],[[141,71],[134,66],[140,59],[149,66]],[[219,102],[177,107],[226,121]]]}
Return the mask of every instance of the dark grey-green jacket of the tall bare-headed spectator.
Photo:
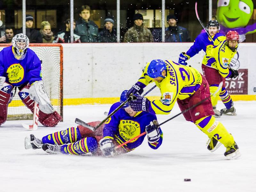
{"label": "dark grey-green jacket of the tall bare-headed spectator", "polygon": [[82,18],[76,21],[75,33],[80,36],[82,43],[95,43],[98,42],[98,26],[89,20],[85,22]]}

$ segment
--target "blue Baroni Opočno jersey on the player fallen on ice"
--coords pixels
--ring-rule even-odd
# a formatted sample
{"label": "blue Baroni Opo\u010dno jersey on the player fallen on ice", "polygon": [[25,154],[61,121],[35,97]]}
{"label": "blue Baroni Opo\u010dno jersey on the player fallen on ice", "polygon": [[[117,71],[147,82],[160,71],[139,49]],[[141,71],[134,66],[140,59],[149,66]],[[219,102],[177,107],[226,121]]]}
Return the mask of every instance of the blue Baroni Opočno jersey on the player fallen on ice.
{"label": "blue Baroni Opo\u010dno jersey on the player fallen on ice", "polygon": [[[114,111],[117,107],[120,106],[120,102],[114,103],[108,114]],[[108,137],[116,140],[117,143],[122,144],[132,138],[140,135],[145,132],[145,127],[150,124],[150,121],[156,120],[156,115],[152,113],[139,111],[135,116],[131,117],[128,113],[125,112],[123,108],[119,109],[112,117],[110,117],[103,129],[103,137]],[[161,131],[160,139],[155,143],[148,143],[148,145],[157,149],[163,141],[163,132]],[[144,140],[146,134],[142,135],[138,139],[131,141],[123,146],[123,148],[129,152],[136,147],[140,146]]]}

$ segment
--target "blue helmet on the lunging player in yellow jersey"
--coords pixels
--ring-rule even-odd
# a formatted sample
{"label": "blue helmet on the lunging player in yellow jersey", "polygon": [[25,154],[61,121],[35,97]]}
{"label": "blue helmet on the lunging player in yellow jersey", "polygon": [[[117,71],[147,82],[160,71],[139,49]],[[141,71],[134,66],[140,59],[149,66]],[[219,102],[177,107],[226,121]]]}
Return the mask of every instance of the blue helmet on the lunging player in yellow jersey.
{"label": "blue helmet on the lunging player in yellow jersey", "polygon": [[163,60],[160,60],[160,59],[152,60],[148,65],[147,74],[151,78],[156,78],[156,77],[164,78],[164,76],[162,76],[163,70],[166,70],[166,65]]}

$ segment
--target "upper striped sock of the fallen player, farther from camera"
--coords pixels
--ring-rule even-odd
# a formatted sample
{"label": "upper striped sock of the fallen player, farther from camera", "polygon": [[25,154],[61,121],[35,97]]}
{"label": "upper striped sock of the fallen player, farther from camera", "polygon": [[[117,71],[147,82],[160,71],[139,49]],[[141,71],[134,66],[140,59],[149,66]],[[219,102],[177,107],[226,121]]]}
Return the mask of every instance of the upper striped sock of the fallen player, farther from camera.
{"label": "upper striped sock of the fallen player, farther from camera", "polygon": [[52,134],[46,135],[43,137],[42,141],[43,143],[48,143],[48,144],[57,144],[57,145],[63,145],[63,144],[68,144],[68,143],[74,143],[77,140],[80,140],[81,134],[80,131],[77,128],[70,127],[66,130],[54,132]]}

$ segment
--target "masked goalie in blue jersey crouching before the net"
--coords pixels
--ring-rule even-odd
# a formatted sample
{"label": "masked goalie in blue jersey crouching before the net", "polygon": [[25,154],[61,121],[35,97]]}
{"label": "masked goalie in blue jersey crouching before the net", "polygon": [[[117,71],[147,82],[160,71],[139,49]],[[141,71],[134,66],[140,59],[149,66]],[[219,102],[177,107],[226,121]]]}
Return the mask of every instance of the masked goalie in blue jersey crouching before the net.
{"label": "masked goalie in blue jersey crouching before the net", "polygon": [[14,87],[18,87],[20,99],[32,113],[34,102],[39,104],[39,122],[54,127],[62,118],[44,90],[41,61],[28,44],[28,37],[20,33],[12,38],[12,46],[0,52],[0,125],[6,121],[8,104],[12,101]]}

